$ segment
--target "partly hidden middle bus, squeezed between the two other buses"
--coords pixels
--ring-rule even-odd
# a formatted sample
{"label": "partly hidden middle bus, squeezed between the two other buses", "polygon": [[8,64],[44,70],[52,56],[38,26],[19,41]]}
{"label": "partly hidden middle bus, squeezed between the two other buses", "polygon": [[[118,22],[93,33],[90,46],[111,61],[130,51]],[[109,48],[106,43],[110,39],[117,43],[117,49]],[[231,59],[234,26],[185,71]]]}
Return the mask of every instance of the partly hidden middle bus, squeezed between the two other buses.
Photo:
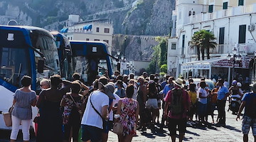
{"label": "partly hidden middle bus, squeezed between the two other buses", "polygon": [[60,76],[66,80],[71,80],[73,75],[73,57],[68,38],[58,31],[50,32],[55,38],[60,60]]}

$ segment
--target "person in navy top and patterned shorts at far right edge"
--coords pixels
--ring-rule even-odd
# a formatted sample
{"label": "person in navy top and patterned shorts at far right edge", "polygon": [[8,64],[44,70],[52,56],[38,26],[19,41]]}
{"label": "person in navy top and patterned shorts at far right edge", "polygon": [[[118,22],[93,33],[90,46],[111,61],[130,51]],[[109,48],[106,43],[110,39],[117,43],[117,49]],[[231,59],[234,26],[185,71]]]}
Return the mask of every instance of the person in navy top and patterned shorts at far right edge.
{"label": "person in navy top and patterned shorts at far right edge", "polygon": [[246,93],[242,97],[242,104],[240,105],[238,116],[236,118],[237,121],[240,119],[242,109],[245,108],[245,114],[242,117],[242,133],[243,141],[246,142],[248,141],[250,127],[252,128],[252,135],[256,141],[256,83],[250,84],[250,87],[252,87],[252,92]]}

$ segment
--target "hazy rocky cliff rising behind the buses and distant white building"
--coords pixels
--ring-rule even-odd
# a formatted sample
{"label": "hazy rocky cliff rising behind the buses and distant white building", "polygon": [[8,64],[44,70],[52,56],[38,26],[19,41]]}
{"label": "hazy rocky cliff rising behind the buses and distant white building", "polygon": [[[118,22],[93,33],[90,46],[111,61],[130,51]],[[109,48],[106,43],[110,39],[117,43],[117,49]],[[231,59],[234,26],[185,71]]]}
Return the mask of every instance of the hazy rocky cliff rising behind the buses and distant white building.
{"label": "hazy rocky cliff rising behind the buses and distant white building", "polygon": [[117,34],[168,35],[174,7],[175,0],[0,0],[0,24],[9,19],[40,27],[57,23],[59,30],[60,21],[78,14],[83,20],[109,18]]}

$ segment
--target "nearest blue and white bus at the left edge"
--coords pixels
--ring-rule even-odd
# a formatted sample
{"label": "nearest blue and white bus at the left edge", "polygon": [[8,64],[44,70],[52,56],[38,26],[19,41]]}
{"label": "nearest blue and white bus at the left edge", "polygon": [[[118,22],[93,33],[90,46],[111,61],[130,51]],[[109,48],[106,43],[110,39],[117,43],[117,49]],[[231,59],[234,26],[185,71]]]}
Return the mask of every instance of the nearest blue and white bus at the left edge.
{"label": "nearest blue and white bus at the left edge", "polygon": [[[60,74],[55,40],[50,32],[31,26],[0,26],[0,111],[12,105],[21,77],[32,77],[31,89],[40,92],[41,78]],[[33,107],[33,116],[37,113]],[[0,129],[11,129],[0,115]]]}

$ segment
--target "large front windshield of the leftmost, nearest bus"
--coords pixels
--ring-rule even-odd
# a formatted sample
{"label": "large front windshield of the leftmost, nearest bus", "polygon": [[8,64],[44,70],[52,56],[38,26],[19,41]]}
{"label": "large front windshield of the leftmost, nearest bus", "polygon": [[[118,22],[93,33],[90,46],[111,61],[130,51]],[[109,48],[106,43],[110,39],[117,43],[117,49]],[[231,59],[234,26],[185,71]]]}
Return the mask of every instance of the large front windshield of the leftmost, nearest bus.
{"label": "large front windshield of the leftmost, nearest bus", "polygon": [[0,78],[21,87],[21,77],[29,74],[26,48],[0,48]]}

